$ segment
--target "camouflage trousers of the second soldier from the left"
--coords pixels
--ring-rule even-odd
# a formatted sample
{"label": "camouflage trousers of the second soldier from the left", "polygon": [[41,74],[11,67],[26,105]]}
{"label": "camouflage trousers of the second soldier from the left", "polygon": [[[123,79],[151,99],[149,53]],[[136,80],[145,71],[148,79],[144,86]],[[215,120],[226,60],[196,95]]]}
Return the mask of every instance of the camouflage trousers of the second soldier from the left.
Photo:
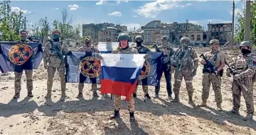
{"label": "camouflage trousers of the second soldier from the left", "polygon": [[58,71],[58,74],[60,76],[60,87],[61,87],[61,92],[65,93],[65,67],[64,66],[58,66],[58,67],[53,67],[53,66],[48,66],[48,81],[47,81],[47,92],[51,93],[51,90],[53,88],[53,77],[55,74],[55,71]]}

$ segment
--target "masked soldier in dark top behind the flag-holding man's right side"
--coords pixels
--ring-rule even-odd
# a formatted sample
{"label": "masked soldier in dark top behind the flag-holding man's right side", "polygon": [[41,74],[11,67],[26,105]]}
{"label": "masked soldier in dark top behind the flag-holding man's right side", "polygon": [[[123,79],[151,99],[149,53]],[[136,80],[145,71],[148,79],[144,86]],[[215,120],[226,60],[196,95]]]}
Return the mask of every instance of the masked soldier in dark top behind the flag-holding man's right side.
{"label": "masked soldier in dark top behind the flag-holding man's right side", "polygon": [[[143,37],[141,35],[137,35],[135,37],[136,40],[136,47],[135,49],[137,49],[137,52],[139,52],[139,54],[146,54],[146,52],[151,52],[151,50],[149,49],[149,47],[145,47],[144,45],[142,45],[143,42]],[[144,100],[146,101],[146,99],[151,99],[149,96],[149,88],[148,86],[146,86],[146,82],[147,82],[147,78],[142,79],[142,89],[144,92]],[[138,86],[139,83],[137,83]],[[133,93],[134,98],[137,97],[137,87]]]}

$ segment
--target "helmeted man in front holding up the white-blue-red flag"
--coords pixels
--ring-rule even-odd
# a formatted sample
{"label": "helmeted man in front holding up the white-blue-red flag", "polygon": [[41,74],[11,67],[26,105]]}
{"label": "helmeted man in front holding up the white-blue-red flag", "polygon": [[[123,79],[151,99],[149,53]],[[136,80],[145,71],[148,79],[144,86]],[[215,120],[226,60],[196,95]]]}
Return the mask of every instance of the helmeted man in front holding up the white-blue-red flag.
{"label": "helmeted man in front holding up the white-blue-red flag", "polygon": [[101,93],[114,94],[114,114],[110,118],[119,117],[121,96],[128,100],[130,120],[134,117],[134,98],[132,93],[137,86],[139,73],[146,59],[146,54],[138,54],[137,49],[129,47],[129,35],[121,33],[117,37],[119,47],[112,54],[101,54]]}

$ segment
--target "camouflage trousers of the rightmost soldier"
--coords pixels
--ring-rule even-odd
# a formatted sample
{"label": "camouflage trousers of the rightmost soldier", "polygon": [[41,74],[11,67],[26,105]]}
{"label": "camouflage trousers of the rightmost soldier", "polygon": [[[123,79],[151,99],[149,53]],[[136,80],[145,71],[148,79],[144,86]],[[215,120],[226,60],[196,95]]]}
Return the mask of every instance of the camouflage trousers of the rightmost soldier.
{"label": "camouflage trousers of the rightmost soldier", "polygon": [[238,84],[237,81],[232,83],[232,93],[233,93],[233,109],[238,111],[241,102],[241,92],[245,98],[245,104],[247,108],[247,114],[253,114],[255,112],[253,105],[253,84],[244,84],[247,91]]}

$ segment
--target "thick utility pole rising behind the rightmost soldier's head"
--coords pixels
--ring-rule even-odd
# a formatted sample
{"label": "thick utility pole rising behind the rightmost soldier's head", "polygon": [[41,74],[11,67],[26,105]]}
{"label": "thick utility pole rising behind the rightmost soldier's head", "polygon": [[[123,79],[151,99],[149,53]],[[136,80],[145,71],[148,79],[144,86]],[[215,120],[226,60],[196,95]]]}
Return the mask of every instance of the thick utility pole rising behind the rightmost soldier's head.
{"label": "thick utility pole rising behind the rightmost soldier's head", "polygon": [[245,1],[245,41],[250,41],[250,16],[250,1]]}

